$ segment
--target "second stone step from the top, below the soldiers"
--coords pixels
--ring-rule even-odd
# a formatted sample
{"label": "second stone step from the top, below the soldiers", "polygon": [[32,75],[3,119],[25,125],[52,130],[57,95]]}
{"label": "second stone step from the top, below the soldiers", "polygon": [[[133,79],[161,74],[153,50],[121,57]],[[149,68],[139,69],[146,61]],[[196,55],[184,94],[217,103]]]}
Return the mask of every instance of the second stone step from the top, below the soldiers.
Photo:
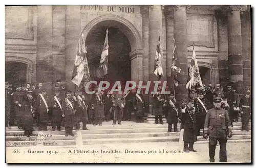
{"label": "second stone step from the top, below the soldiers", "polygon": [[[100,126],[99,126],[100,127]],[[98,127],[98,128],[99,128]],[[250,129],[251,126],[249,126]],[[233,131],[234,130],[241,130],[242,126],[234,126],[233,127]],[[180,130],[180,128],[178,127],[178,130]],[[92,130],[80,130],[82,134],[112,134],[112,133],[141,133],[141,132],[166,132],[167,131],[167,127],[159,127],[159,128],[123,128],[123,129],[92,129]],[[42,131],[45,134],[48,135],[64,135],[65,134],[65,130],[61,130],[61,131],[50,131],[50,129],[48,131]],[[75,132],[75,131],[74,131]],[[37,134],[38,131],[33,131],[33,134]],[[19,135],[23,135],[24,131],[20,130],[20,131],[6,131],[6,136],[19,136]]]}

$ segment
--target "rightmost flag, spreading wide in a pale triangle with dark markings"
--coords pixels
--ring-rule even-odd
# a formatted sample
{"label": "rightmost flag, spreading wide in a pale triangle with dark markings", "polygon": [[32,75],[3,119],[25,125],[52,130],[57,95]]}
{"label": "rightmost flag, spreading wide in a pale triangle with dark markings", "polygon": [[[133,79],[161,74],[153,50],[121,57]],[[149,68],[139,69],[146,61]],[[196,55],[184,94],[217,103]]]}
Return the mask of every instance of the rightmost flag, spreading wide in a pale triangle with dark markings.
{"label": "rightmost flag, spreading wide in a pale triangle with dark markings", "polygon": [[188,82],[186,84],[186,89],[191,89],[191,86],[199,85],[200,87],[203,86],[201,76],[199,73],[199,66],[196,59],[196,52],[193,47],[193,55],[191,58],[191,63],[189,65],[189,74],[188,74]]}

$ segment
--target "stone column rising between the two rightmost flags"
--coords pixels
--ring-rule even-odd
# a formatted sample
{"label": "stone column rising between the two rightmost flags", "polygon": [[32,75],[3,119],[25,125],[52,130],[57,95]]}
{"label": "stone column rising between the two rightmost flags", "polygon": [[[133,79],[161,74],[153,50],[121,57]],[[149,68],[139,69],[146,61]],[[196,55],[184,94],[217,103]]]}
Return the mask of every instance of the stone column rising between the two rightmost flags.
{"label": "stone column rising between the two rightmost flags", "polygon": [[174,9],[174,38],[176,43],[176,53],[180,62],[183,74],[179,75],[179,93],[176,95],[177,101],[187,99],[187,13],[186,8],[190,6],[175,6]]}

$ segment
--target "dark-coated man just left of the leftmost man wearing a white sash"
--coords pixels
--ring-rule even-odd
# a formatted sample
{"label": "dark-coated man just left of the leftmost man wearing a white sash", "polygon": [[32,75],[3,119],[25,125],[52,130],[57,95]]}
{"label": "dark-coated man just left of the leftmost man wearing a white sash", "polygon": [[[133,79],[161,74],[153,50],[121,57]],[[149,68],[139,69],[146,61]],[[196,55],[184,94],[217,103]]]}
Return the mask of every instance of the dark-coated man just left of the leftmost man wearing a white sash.
{"label": "dark-coated man just left of the leftmost man wearing a white sash", "polygon": [[24,122],[24,135],[30,137],[33,132],[33,117],[35,115],[35,111],[33,108],[33,96],[32,96],[33,89],[29,88],[25,93],[24,100],[22,102],[22,106],[20,106],[20,110],[22,111],[23,115],[23,122]]}

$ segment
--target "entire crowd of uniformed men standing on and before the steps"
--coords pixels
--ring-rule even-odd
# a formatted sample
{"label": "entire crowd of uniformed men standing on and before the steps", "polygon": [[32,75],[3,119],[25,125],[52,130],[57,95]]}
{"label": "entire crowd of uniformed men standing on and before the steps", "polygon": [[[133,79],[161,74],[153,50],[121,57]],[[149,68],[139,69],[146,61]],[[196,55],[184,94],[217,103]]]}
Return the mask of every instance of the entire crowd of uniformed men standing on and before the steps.
{"label": "entire crowd of uniformed men standing on and before the steps", "polygon": [[[114,124],[121,121],[131,120],[134,113],[136,123],[143,123],[145,113],[145,101],[142,94],[128,91],[125,95],[110,93],[110,90],[98,91],[98,86],[89,90],[95,90],[94,94],[87,94],[83,89],[76,91],[73,95],[66,90],[65,85],[57,80],[54,85],[53,95],[38,83],[36,87],[26,84],[26,87],[18,85],[12,91],[6,82],[6,127],[10,126],[10,107],[14,105],[17,126],[24,129],[25,136],[31,136],[33,126],[38,130],[47,130],[47,123],[51,121],[52,131],[60,130],[65,126],[66,136],[74,136],[73,127],[87,129],[87,124],[102,125],[104,121],[113,119]],[[226,90],[216,84],[215,87],[208,85],[189,91],[188,99],[177,102],[174,92],[161,94],[161,89],[152,94],[153,114],[155,124],[163,124],[163,116],[168,123],[167,132],[178,132],[184,129],[183,141],[184,152],[196,152],[194,142],[200,130],[203,129],[203,137],[209,136],[209,157],[214,162],[217,141],[220,144],[220,161],[226,161],[227,137],[231,136],[230,130],[233,122],[238,122],[241,115],[242,130],[249,131],[248,123],[251,116],[250,90],[245,89],[240,100],[236,87],[227,85]]]}

